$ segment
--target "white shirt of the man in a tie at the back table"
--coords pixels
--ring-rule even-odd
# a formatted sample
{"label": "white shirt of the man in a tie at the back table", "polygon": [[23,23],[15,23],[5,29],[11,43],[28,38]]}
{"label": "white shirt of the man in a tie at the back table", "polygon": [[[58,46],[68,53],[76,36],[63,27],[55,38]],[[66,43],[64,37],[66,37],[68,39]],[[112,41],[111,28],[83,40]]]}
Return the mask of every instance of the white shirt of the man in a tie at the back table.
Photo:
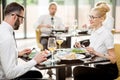
{"label": "white shirt of the man in a tie at the back table", "polygon": [[[53,18],[53,21],[51,20],[51,18]],[[37,28],[40,24],[44,24],[44,25],[53,25],[54,23],[54,26],[55,26],[55,29],[58,29],[58,30],[64,30],[65,27],[62,23],[62,20],[57,17],[57,16],[50,16],[50,15],[42,15],[40,16],[40,18],[38,19],[38,21],[35,23],[35,27]],[[51,30],[52,28],[47,28],[47,27],[42,27],[41,28],[41,32],[42,32],[42,35],[50,35],[51,33]]]}

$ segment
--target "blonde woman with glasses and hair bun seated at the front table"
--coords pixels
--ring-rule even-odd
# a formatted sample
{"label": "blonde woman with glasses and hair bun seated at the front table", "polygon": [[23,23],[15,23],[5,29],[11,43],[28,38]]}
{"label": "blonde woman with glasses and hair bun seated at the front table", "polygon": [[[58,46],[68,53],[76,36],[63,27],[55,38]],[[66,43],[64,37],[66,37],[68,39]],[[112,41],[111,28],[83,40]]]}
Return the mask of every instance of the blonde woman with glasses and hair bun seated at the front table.
{"label": "blonde woman with glasses and hair bun seated at the front table", "polygon": [[[112,33],[103,25],[108,10],[95,7],[89,15],[93,32],[87,51],[96,56],[95,60],[107,59],[109,64],[95,64],[94,67],[77,66],[73,70],[74,80],[113,80],[118,76]],[[104,37],[103,37],[104,36]],[[81,47],[76,44],[76,47]]]}

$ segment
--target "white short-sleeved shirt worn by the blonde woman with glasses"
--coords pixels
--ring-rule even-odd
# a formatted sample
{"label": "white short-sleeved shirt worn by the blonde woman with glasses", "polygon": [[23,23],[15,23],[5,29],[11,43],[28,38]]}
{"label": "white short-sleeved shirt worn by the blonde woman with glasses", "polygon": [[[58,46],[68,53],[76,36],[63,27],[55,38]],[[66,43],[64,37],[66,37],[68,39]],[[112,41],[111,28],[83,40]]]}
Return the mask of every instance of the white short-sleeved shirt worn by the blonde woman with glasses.
{"label": "white short-sleeved shirt worn by the blonde woman with glasses", "polygon": [[108,49],[114,48],[112,33],[105,26],[93,31],[90,37],[90,47],[101,54],[107,54]]}

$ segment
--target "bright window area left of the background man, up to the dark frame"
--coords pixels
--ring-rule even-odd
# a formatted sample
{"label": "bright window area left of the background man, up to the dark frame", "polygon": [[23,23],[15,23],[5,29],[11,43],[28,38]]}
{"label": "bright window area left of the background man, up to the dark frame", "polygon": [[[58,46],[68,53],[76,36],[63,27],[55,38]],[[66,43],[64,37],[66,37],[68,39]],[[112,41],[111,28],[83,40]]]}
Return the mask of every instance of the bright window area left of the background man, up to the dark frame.
{"label": "bright window area left of the background man, up to the dark frame", "polygon": [[27,38],[35,37],[35,22],[38,18],[48,13],[49,0],[26,0],[26,33]]}

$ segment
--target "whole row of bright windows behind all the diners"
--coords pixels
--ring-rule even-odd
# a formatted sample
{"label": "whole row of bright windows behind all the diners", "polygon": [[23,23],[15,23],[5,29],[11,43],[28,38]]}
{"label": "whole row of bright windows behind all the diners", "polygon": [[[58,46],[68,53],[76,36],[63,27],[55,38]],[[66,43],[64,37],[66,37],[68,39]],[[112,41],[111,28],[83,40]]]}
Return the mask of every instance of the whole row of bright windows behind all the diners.
{"label": "whole row of bright windows behind all the diners", "polygon": [[[81,28],[83,24],[88,23],[89,11],[99,0],[6,0],[6,4],[13,1],[20,3],[25,7],[25,20],[20,29],[16,31],[16,38],[35,38],[36,26],[34,26],[34,24],[41,15],[49,14],[48,6],[50,2],[55,1],[58,4],[56,16],[59,16],[62,19],[65,26],[71,28],[73,21],[77,19],[78,28]],[[113,0],[101,1],[106,1],[110,5],[110,15],[115,16],[113,13],[116,13],[115,28],[118,29],[118,26],[120,25],[119,0],[116,0],[116,12],[113,11],[113,7],[115,6],[113,6]]]}

